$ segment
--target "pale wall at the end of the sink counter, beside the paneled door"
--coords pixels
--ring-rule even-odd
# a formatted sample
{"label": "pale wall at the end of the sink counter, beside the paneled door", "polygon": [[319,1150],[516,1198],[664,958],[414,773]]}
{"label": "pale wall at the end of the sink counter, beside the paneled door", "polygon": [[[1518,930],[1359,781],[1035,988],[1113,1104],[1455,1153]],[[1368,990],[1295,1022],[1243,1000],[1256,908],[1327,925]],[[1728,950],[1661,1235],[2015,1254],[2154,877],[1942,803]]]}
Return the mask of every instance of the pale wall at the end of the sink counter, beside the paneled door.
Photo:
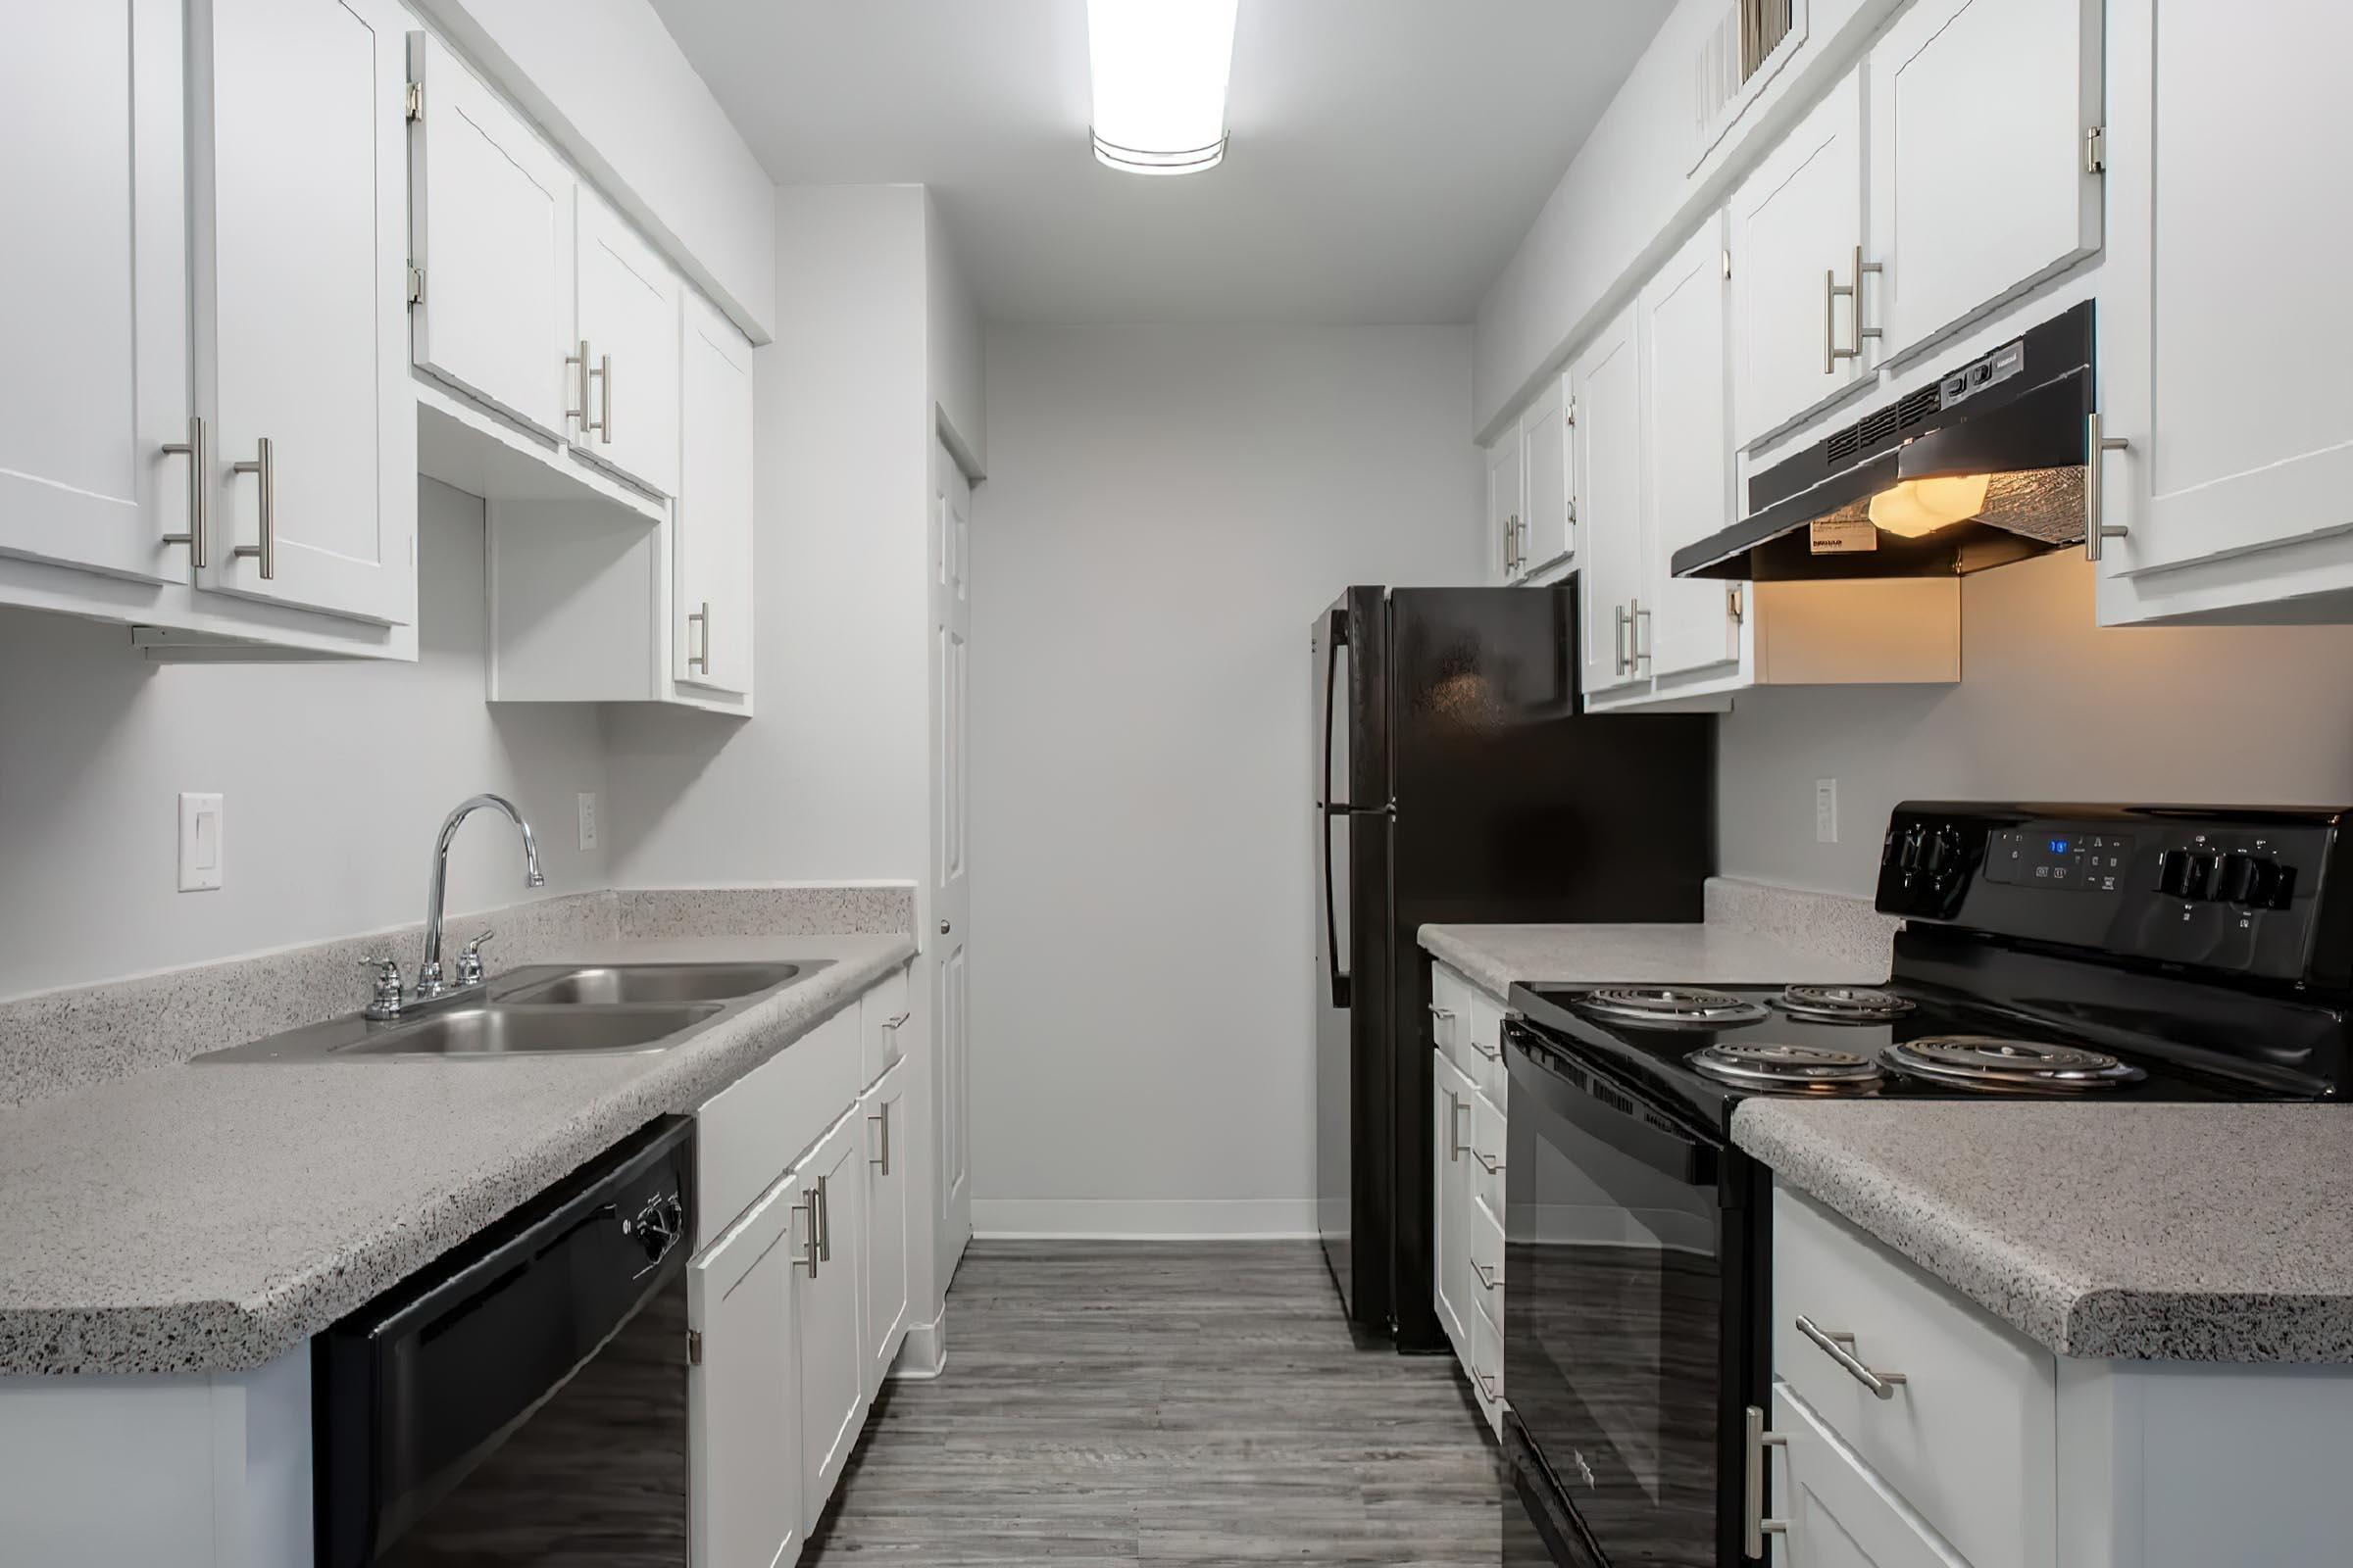
{"label": "pale wall at the end of the sink counter, beside the paneled door", "polygon": [[626,886],[918,879],[929,802],[922,186],[776,190],[753,353],[755,717],[607,724]]}

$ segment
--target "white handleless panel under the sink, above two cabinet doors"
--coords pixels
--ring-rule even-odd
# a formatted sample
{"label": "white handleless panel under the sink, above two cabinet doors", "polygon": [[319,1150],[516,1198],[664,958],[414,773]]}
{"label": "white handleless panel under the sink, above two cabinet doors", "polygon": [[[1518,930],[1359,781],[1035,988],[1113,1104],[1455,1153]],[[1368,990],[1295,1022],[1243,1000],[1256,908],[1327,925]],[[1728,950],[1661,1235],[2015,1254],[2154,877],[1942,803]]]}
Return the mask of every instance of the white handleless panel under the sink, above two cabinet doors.
{"label": "white handleless panel under the sink, above two cabinet doors", "polygon": [[694,1248],[751,1208],[859,1098],[859,1009],[833,1013],[694,1112]]}

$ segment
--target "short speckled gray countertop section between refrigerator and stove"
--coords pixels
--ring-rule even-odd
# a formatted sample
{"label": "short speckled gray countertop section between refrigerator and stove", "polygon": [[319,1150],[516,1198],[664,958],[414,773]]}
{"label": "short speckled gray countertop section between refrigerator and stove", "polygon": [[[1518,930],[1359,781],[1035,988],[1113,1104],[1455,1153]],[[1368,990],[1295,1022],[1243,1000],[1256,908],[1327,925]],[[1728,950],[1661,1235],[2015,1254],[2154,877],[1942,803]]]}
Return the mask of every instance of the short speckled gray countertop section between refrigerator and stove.
{"label": "short speckled gray countertop section between refrigerator and stove", "polygon": [[1421,945],[1492,997],[1513,985],[1873,983],[1897,922],[1868,900],[1708,879],[1706,922],[1673,926],[1421,926]]}

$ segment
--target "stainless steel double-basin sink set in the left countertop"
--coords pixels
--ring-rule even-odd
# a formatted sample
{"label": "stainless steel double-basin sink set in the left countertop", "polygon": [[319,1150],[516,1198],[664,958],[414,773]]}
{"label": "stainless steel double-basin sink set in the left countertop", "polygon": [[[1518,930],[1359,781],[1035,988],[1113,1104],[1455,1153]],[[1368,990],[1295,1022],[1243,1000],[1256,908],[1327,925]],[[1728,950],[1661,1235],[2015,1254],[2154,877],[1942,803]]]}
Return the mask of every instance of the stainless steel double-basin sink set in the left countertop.
{"label": "stainless steel double-basin sink set in the left countertop", "polygon": [[795,985],[831,959],[767,964],[536,964],[405,1018],[360,1013],[212,1051],[198,1063],[384,1060],[409,1056],[614,1056],[668,1051]]}

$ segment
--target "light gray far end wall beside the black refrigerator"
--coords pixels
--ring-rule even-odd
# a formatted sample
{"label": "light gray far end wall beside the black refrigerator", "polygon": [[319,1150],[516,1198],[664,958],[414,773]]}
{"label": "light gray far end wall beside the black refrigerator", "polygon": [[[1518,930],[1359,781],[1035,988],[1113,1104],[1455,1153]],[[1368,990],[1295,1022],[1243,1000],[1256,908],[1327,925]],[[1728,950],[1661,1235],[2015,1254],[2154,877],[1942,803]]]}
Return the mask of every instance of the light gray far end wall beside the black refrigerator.
{"label": "light gray far end wall beside the black refrigerator", "polygon": [[1482,564],[1466,327],[993,327],[974,1225],[1313,1232],[1308,625]]}

